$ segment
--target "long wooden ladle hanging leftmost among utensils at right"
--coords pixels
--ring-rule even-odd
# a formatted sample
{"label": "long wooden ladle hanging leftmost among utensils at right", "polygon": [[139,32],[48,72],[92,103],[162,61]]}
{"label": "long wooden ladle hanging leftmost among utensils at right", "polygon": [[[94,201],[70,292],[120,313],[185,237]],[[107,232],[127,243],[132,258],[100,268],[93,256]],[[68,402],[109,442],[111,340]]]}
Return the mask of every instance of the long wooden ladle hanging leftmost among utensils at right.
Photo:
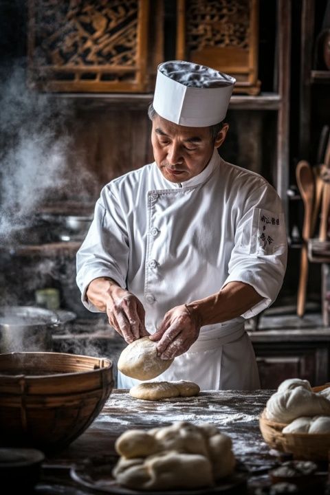
{"label": "long wooden ladle hanging leftmost among utensils at right", "polygon": [[311,166],[306,160],[300,160],[296,166],[296,180],[304,203],[303,246],[300,255],[300,277],[297,297],[297,314],[305,313],[306,289],[308,280],[307,242],[311,236],[311,219],[314,203],[315,181]]}

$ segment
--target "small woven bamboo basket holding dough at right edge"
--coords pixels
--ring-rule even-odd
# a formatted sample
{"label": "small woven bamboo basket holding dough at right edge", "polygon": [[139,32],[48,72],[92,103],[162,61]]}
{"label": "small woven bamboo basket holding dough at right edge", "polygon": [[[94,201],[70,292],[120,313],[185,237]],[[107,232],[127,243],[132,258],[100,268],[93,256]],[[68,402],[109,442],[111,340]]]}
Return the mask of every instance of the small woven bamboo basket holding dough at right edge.
{"label": "small woven bamboo basket holding dough at right edge", "polygon": [[[320,392],[328,388],[330,383],[313,388]],[[289,452],[294,459],[309,461],[327,461],[330,451],[330,433],[283,433],[287,423],[276,423],[265,416],[265,409],[259,417],[259,428],[263,439],[270,446],[281,452]]]}

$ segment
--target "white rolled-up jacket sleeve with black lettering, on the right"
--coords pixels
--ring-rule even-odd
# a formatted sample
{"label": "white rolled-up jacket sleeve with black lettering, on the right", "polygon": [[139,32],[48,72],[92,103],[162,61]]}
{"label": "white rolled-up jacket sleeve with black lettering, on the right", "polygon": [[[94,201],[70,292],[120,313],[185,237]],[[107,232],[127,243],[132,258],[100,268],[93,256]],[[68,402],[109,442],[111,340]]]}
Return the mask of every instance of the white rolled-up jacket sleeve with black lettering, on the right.
{"label": "white rolled-up jacket sleeve with black lettering, on the right", "polygon": [[246,201],[236,225],[228,278],[223,283],[223,287],[234,281],[247,283],[263,297],[241,315],[243,318],[256,316],[274,302],[286,266],[287,234],[282,203],[274,188],[267,184]]}

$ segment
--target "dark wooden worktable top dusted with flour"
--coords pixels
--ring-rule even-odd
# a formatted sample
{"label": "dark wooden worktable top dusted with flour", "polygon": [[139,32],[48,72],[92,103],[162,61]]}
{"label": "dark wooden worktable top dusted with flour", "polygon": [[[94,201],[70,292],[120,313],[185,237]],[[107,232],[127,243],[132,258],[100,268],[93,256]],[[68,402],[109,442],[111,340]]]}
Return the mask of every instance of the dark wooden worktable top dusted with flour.
{"label": "dark wooden worktable top dusted with flour", "polygon": [[62,452],[47,456],[35,493],[93,493],[70,480],[70,467],[91,456],[114,453],[115,439],[126,430],[146,430],[175,421],[190,421],[212,423],[230,435],[238,468],[248,476],[247,493],[254,494],[255,487],[267,484],[268,470],[280,462],[278,453],[270,451],[259,430],[259,414],[272,393],[274,391],[204,391],[197,397],[142,401],[131,397],[128,391],[115,389],[100,415],[76,441]]}

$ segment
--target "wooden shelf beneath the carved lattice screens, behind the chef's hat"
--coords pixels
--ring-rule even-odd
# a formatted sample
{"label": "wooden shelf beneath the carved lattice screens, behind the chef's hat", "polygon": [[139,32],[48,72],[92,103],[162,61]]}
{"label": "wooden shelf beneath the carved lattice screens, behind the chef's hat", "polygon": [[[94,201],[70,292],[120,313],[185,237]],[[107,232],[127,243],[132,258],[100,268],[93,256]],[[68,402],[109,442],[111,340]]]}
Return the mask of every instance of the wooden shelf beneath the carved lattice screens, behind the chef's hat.
{"label": "wooden shelf beneath the carved lattice screens, behind the chef's hat", "polygon": [[[54,93],[55,98],[65,98],[81,102],[88,107],[104,105],[127,104],[130,108],[141,109],[153,100],[153,94],[123,94],[123,93]],[[229,108],[236,110],[278,110],[281,97],[276,93],[261,93],[258,96],[233,95]]]}

